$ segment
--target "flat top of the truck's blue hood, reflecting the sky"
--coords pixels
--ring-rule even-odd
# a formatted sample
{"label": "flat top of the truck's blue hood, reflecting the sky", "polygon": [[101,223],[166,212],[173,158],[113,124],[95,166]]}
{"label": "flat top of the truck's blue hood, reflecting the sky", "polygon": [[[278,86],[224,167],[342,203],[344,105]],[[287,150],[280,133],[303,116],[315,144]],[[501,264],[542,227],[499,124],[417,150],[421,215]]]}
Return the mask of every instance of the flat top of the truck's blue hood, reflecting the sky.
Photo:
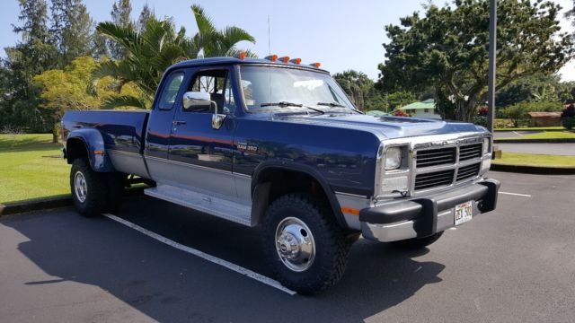
{"label": "flat top of the truck's blue hood, reflecting the sky", "polygon": [[407,136],[441,135],[464,132],[486,132],[487,129],[464,122],[446,122],[427,118],[375,117],[360,114],[284,115],[274,121],[295,122],[320,127],[361,129],[372,132],[382,139]]}

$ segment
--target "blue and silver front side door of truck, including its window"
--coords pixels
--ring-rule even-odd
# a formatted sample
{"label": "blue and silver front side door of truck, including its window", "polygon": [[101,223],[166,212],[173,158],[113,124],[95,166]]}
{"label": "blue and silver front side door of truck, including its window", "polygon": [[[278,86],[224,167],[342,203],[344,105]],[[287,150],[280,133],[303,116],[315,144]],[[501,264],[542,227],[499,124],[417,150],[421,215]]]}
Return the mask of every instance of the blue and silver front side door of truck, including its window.
{"label": "blue and silver front side door of truck, including its window", "polygon": [[[236,197],[234,155],[235,100],[228,67],[192,69],[184,92],[206,92],[211,105],[204,109],[178,107],[174,113],[168,159],[177,185],[207,195]],[[212,127],[215,109],[226,114],[224,124]]]}

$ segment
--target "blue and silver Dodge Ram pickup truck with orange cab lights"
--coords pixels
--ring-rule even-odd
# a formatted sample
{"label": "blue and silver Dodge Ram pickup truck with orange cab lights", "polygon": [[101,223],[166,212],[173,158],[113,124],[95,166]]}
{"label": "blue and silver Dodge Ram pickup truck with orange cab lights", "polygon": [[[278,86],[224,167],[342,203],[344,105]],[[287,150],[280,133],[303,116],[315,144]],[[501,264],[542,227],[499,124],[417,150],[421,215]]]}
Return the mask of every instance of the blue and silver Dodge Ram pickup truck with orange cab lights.
{"label": "blue and silver Dodge Ram pickup truck with orange cab lights", "polygon": [[261,227],[265,260],[302,293],[337,283],[360,235],[423,248],[495,209],[500,187],[483,177],[485,128],[366,116],[319,65],[275,56],[181,62],[149,111],[69,111],[62,127],[78,213],[146,181],[148,196]]}

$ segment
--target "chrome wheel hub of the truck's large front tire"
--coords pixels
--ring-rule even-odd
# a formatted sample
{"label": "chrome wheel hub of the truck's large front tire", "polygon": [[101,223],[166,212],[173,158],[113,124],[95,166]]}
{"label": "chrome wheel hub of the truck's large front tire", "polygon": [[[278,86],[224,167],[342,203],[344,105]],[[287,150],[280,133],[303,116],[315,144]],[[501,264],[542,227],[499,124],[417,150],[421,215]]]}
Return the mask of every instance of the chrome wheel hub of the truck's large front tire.
{"label": "chrome wheel hub of the truck's large front tire", "polygon": [[276,229],[279,259],[295,272],[303,272],[314,263],[315,241],[312,231],[295,217],[283,219]]}

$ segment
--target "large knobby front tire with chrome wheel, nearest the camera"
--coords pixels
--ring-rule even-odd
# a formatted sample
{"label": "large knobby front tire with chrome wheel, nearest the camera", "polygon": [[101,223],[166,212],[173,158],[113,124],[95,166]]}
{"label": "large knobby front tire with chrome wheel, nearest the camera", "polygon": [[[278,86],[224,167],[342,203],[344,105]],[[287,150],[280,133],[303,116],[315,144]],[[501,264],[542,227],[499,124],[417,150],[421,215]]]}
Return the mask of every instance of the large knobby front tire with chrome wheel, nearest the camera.
{"label": "large knobby front tire with chrome wheel, nearest the camera", "polygon": [[290,194],[270,205],[262,245],[281,284],[314,294],[341,279],[350,243],[327,208],[311,196]]}

